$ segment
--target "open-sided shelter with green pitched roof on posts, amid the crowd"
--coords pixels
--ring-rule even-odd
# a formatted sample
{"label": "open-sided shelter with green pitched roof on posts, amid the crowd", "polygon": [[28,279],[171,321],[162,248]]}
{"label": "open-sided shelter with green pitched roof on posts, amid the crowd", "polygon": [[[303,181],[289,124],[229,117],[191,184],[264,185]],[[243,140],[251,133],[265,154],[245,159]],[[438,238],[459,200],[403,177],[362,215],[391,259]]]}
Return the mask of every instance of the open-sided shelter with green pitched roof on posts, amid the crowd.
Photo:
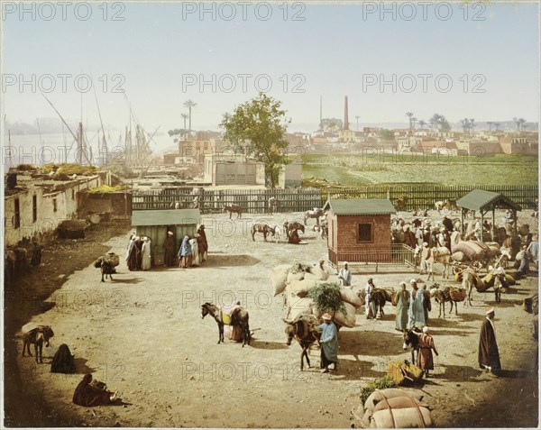
{"label": "open-sided shelter with green pitched roof on posts, amid the crowd", "polygon": [[[517,235],[517,211],[521,211],[522,207],[516,204],[509,197],[502,194],[485,191],[483,189],[474,189],[464,197],[456,201],[456,205],[461,208],[461,223],[464,224],[464,215],[468,210],[478,211],[481,214],[481,225],[484,222],[485,216],[492,213],[492,225],[496,225],[496,209],[509,209],[513,214],[513,231]],[[467,232],[464,232],[467,233]],[[482,242],[482,234],[480,237]]]}

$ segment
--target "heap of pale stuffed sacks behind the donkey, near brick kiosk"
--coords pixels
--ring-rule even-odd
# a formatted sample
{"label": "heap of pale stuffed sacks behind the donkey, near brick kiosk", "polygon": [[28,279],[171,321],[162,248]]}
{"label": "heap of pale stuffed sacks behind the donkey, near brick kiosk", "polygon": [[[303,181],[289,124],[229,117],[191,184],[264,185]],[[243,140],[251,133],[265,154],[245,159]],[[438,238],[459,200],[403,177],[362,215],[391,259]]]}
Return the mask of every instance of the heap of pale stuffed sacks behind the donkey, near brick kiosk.
{"label": "heap of pale stuffed sacks behind the donkey, near brick kiosk", "polygon": [[[329,282],[329,274],[318,266],[305,264],[282,264],[271,270],[272,288],[274,296],[284,293],[284,303],[287,308],[286,318],[294,320],[301,314],[314,315],[319,318],[322,312],[314,306],[308,291],[322,283]],[[345,315],[338,310],[333,315],[333,321],[345,327],[355,326],[355,309],[362,306],[362,301],[352,288],[340,287],[340,296],[345,307]]]}

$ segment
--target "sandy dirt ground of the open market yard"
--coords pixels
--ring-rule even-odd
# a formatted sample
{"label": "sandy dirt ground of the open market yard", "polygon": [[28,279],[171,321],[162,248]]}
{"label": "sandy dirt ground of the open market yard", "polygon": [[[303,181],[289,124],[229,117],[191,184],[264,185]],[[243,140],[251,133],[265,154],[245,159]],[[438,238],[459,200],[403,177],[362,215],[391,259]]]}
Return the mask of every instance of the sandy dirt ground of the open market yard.
{"label": "sandy dirt ground of the open market yard", "polygon": [[[394,309],[388,304],[387,315],[375,321],[366,320],[361,309],[357,325],[340,331],[337,373],[319,373],[317,350],[310,352],[313,367],[299,371],[300,347],[285,344],[282,297],[272,297],[269,270],[315,263],[326,255],[326,242],[310,229],[301,234],[304,245],[263,242],[261,235],[252,242],[248,228],[256,219],[281,224],[302,216],[205,216],[210,251],[202,267],[131,272],[121,262],[114,280],[105,283],[91,263],[109,250],[124,256],[129,225],[110,224],[85,240],[46,248],[40,268],[5,288],[5,425],[348,427],[362,386],[383,376],[388,361],[410,357],[394,330]],[[378,287],[398,288],[412,275],[405,269],[371,276]],[[354,274],[353,288],[362,288],[366,279]],[[441,276],[436,281],[442,283]],[[433,376],[420,388],[437,426],[538,425],[537,343],[532,316],[521,307],[537,291],[537,281],[520,280],[497,306],[491,289],[476,293],[472,307],[460,304],[458,315],[445,319],[437,318],[433,306],[428,325],[440,354]],[[201,319],[204,302],[236,300],[250,312],[255,330],[244,348],[227,339],[216,344],[215,321]],[[477,363],[487,306],[496,307],[500,377],[481,372]],[[14,336],[31,321],[51,325],[55,333],[43,364],[21,357],[23,344]],[[61,343],[75,354],[77,374],[50,373]],[[74,405],[73,391],[86,372],[118,390],[123,402]]]}

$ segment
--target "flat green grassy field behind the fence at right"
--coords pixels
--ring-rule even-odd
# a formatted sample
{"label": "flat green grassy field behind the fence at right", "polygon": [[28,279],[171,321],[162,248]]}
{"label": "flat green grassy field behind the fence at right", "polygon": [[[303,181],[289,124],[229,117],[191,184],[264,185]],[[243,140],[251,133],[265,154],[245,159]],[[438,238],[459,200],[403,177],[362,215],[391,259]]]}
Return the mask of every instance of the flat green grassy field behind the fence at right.
{"label": "flat green grassy field behind the fence at right", "polygon": [[537,157],[499,154],[470,157],[328,153],[304,155],[303,185],[369,184],[536,185]]}

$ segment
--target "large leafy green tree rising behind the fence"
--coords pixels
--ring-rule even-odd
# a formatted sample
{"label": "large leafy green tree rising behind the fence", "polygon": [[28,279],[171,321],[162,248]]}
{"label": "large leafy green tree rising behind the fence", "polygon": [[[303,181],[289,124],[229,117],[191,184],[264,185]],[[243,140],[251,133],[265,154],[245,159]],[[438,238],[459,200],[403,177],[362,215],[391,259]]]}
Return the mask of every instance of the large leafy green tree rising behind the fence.
{"label": "large leafy green tree rising behind the fence", "polygon": [[271,188],[278,183],[281,167],[289,164],[283,150],[288,147],[285,135],[291,120],[280,106],[280,101],[260,93],[232,114],[224,114],[220,124],[234,151],[243,150],[265,165],[265,183]]}

